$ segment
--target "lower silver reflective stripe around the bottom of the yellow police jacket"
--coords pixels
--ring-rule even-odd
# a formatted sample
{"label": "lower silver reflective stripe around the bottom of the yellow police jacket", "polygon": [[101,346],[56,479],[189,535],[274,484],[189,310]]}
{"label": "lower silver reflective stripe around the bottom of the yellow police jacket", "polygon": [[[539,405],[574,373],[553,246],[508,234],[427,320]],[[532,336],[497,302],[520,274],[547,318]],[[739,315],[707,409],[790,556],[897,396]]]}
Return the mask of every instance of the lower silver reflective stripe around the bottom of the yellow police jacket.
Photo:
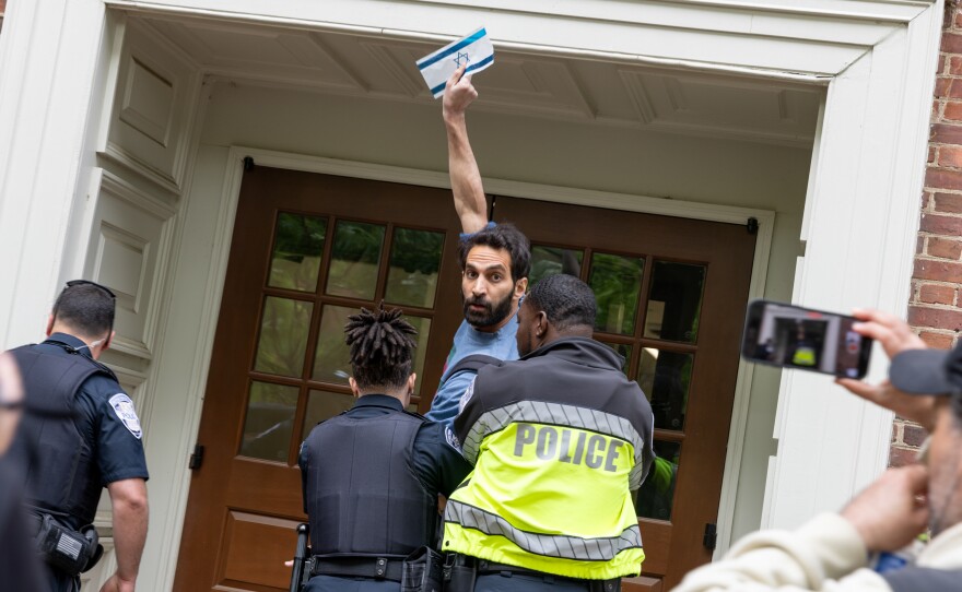
{"label": "lower silver reflective stripe around the bottom of the yellow police jacket", "polygon": [[632,524],[618,536],[598,538],[538,534],[516,529],[497,514],[454,499],[449,500],[445,508],[445,519],[486,535],[504,536],[528,553],[561,559],[610,561],[623,550],[642,547],[642,533],[637,523]]}

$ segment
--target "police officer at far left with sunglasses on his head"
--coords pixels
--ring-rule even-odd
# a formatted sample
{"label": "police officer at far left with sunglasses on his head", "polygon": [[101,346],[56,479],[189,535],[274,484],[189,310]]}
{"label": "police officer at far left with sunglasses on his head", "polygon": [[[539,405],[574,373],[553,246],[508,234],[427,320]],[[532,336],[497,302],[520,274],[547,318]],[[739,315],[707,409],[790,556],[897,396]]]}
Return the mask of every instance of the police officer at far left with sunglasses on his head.
{"label": "police officer at far left with sunglasses on his head", "polygon": [[[114,339],[116,296],[68,282],[47,340],[12,351],[28,407],[11,454],[22,463],[25,500],[46,590],[75,592],[103,547],[91,525],[104,487],[113,507],[117,571],[102,592],[132,592],[146,537],[146,462],[133,402],[97,362]],[[60,417],[58,417],[58,415]],[[69,418],[63,418],[63,416]]]}

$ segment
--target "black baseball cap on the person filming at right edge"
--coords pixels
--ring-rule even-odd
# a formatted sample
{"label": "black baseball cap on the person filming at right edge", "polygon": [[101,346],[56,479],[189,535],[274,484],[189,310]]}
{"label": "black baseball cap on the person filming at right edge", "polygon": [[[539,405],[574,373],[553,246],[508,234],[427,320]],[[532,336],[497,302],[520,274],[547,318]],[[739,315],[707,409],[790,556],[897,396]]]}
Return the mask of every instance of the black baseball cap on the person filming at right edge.
{"label": "black baseball cap on the person filming at right edge", "polygon": [[889,380],[912,394],[962,394],[962,343],[952,350],[906,350],[892,358]]}

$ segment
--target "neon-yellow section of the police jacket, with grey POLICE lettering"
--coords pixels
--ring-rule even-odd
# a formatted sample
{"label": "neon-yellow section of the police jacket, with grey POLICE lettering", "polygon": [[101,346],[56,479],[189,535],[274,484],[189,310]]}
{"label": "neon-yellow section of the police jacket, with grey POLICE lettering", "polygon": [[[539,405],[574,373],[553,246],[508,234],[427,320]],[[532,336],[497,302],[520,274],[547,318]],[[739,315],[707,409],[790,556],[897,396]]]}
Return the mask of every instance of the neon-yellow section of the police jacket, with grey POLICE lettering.
{"label": "neon-yellow section of the police jacket, with grey POLICE lettering", "polygon": [[[539,423],[539,406],[588,419]],[[448,499],[443,549],[568,578],[638,573],[645,553],[629,490],[637,433],[596,410],[531,402],[514,407],[498,411],[530,421],[496,429],[489,424],[470,450],[478,462]]]}

